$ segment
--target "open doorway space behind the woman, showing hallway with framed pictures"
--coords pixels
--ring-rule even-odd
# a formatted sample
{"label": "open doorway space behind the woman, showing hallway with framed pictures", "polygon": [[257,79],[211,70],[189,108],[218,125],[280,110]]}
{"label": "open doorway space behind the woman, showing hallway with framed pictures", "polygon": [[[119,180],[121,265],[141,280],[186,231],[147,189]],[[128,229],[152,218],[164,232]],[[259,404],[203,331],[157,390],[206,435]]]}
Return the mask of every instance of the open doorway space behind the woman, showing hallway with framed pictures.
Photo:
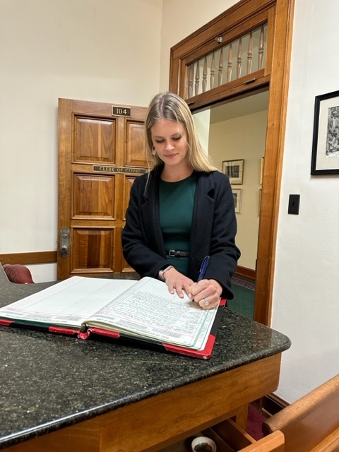
{"label": "open doorway space behind the woman, showing hallway with framed pictures", "polygon": [[242,165],[241,177],[230,178],[236,201],[237,246],[242,251],[230,307],[251,319],[254,318],[267,115],[268,89],[194,112],[199,137],[214,165],[226,173],[233,162]]}

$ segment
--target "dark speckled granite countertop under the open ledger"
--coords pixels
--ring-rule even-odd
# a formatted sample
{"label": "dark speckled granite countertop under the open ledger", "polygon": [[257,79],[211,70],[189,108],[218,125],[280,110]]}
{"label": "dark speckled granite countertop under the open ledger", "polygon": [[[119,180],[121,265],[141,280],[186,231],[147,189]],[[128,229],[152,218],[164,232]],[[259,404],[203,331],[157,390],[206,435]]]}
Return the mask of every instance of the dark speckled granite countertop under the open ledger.
{"label": "dark speckled granite countertop under the open ledger", "polygon": [[[52,284],[10,283],[0,265],[0,306]],[[0,448],[289,347],[285,335],[227,308],[208,360],[0,326]]]}

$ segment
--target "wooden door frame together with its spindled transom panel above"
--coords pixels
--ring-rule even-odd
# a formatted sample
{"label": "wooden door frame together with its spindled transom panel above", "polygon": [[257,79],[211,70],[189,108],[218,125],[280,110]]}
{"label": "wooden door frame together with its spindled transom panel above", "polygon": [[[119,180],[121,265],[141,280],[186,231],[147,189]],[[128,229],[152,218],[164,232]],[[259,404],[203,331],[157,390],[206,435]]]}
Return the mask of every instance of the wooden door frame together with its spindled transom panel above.
{"label": "wooden door frame together with its spindled transom panel above", "polygon": [[[192,112],[207,109],[223,100],[232,100],[239,95],[250,95],[250,93],[257,92],[258,89],[267,89],[269,86],[254,312],[254,319],[267,326],[270,326],[273,301],[275,246],[285,142],[294,4],[294,0],[239,1],[171,49],[169,90],[182,95]],[[257,71],[249,70],[245,75],[242,75],[241,71],[237,71],[237,78],[229,79],[226,74],[228,74],[228,69],[234,66],[233,44],[236,43],[238,49],[234,67],[241,69],[242,61],[250,62],[253,57],[251,45],[244,57],[241,45],[242,37],[247,39],[249,35],[251,43],[251,33],[253,37],[253,33],[258,28],[261,29],[266,25],[267,32],[264,32],[266,44],[262,46],[259,38],[257,52],[261,57],[261,49],[267,49],[264,67],[258,64]],[[223,52],[221,52],[220,44]],[[215,58],[213,59],[213,54],[215,56],[217,53],[218,61],[222,61],[221,65],[217,64]],[[227,54],[226,60],[225,53]],[[196,69],[194,72],[196,82],[200,80],[199,74],[202,67],[201,90],[199,89],[197,92],[191,92],[189,89],[194,81],[191,75],[191,68],[194,65],[196,68],[199,66],[199,70]],[[218,86],[211,83],[210,88],[207,89],[204,82],[209,78],[213,78],[215,82],[217,69],[221,71]],[[195,85],[200,87],[199,83],[194,83]]]}

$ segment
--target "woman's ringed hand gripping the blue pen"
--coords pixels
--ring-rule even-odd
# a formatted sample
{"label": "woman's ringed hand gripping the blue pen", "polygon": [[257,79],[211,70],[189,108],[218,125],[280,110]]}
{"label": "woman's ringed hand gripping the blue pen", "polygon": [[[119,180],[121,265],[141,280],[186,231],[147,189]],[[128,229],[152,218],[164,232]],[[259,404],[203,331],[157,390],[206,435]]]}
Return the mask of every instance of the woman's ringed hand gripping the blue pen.
{"label": "woman's ringed hand gripping the blue pen", "polygon": [[220,302],[222,287],[216,280],[201,280],[192,284],[187,293],[203,309],[212,309]]}

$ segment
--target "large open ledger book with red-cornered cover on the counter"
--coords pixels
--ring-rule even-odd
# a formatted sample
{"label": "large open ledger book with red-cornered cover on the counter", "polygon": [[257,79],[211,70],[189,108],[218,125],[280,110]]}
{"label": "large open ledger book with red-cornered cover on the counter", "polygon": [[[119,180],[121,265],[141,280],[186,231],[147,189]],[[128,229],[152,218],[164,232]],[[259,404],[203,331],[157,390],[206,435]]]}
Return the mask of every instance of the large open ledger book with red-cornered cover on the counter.
{"label": "large open ledger book with red-cornered cover on the counter", "polygon": [[204,310],[153,278],[109,280],[73,276],[0,308],[0,325],[53,333],[90,333],[141,340],[165,350],[209,358],[225,300]]}

